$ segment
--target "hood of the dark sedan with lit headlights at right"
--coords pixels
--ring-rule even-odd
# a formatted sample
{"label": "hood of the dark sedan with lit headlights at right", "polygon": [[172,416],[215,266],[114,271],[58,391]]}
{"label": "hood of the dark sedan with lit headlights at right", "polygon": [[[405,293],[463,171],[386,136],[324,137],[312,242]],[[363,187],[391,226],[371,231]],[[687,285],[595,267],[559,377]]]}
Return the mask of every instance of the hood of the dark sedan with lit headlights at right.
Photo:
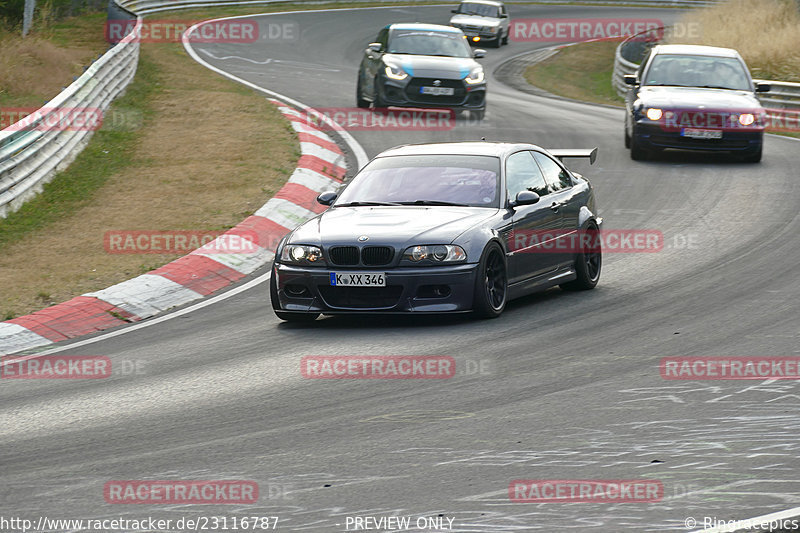
{"label": "hood of the dark sedan with lit headlights at right", "polygon": [[638,99],[645,107],[659,107],[662,109],[761,109],[761,104],[753,93],[726,89],[645,86],[639,89]]}

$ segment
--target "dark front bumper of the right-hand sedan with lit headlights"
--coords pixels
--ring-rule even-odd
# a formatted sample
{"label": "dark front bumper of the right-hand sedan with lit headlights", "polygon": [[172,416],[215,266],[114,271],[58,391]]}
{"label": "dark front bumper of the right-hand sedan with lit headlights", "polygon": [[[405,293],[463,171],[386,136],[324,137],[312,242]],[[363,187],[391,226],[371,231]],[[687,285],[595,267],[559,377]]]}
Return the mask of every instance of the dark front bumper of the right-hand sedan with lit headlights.
{"label": "dark front bumper of the right-hand sedan with lit headlights", "polygon": [[642,148],[749,152],[758,150],[764,142],[764,130],[723,129],[720,139],[694,139],[649,122],[637,121],[633,128],[633,137]]}

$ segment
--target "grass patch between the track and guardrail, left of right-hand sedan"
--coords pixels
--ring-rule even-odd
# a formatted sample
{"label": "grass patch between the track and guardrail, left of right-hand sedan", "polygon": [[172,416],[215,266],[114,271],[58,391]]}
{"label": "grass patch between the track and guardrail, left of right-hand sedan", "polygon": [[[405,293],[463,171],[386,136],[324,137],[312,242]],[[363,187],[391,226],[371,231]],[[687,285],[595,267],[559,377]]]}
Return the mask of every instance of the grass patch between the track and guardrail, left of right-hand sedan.
{"label": "grass patch between the track and guardrail, left of right-hand sedan", "polygon": [[547,92],[592,102],[622,106],[624,100],[611,85],[614,51],[619,43],[600,41],[568,46],[530,66],[525,79]]}

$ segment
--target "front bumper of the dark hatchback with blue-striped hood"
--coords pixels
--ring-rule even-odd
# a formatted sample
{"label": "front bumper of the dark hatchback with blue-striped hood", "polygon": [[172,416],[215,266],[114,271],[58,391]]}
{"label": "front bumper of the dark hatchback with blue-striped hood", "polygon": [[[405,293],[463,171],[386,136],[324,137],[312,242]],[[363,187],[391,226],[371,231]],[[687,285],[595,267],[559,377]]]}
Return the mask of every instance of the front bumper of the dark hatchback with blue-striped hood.
{"label": "front bumper of the dark hatchback with blue-striped hood", "polygon": [[[452,87],[453,95],[422,94],[423,86]],[[451,108],[451,109],[485,109],[486,84],[468,85],[463,80],[444,78],[414,78],[405,80],[383,79],[380,87],[381,97],[387,105],[396,107]]]}

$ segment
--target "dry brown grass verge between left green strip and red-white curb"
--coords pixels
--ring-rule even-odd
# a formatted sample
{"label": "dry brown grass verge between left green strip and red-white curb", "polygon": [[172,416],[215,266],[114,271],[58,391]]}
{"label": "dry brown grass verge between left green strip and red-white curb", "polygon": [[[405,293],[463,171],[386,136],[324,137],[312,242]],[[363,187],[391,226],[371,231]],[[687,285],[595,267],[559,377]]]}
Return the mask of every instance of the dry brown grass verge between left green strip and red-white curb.
{"label": "dry brown grass verge between left green strip and red-white curb", "polygon": [[294,168],[296,137],[263,96],[213,75],[178,45],[143,44],[141,61],[156,68],[160,88],[130,164],[69,216],[2,247],[0,319],[177,257],[108,254],[107,230],[225,229],[258,209]]}

